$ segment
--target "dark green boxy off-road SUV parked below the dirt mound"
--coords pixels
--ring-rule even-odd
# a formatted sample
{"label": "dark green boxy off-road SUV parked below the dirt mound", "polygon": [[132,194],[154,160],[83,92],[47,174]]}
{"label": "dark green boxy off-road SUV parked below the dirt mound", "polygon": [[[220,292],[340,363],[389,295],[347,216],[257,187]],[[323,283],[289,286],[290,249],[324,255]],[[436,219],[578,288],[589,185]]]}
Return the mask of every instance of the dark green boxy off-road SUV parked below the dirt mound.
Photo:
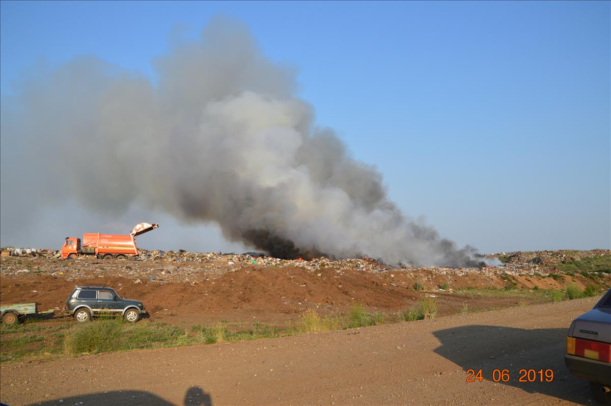
{"label": "dark green boxy off-road SUV parked below the dirt mound", "polygon": [[102,313],[120,314],[127,322],[135,323],[147,312],[141,301],[123,299],[105,286],[76,286],[66,300],[65,310],[77,322],[87,322]]}

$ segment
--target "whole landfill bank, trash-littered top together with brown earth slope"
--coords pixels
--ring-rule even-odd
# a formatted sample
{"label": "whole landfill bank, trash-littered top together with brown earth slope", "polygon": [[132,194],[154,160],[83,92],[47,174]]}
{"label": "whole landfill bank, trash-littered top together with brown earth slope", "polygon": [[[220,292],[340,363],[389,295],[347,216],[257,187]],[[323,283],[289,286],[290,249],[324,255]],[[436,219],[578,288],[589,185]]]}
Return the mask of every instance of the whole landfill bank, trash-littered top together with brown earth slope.
{"label": "whole landfill bank, trash-littered top together with brown earth slope", "polygon": [[[593,283],[611,286],[609,273],[598,273],[596,280],[579,273],[547,277],[561,272],[554,265],[536,264],[532,259],[547,260],[548,254],[557,257],[553,253],[529,253],[522,262],[514,259],[505,265],[481,268],[393,268],[370,258],[306,261],[260,253],[143,249],[139,260],[103,260],[93,256],[60,259],[53,250],[37,252],[40,255],[2,256],[0,301],[36,301],[45,308],[61,308],[65,295],[75,285],[108,284],[125,297],[145,301],[155,317],[176,317],[172,320],[177,323],[196,319],[208,322],[210,317],[214,320],[252,321],[253,317],[288,320],[286,317],[290,319],[306,309],[346,312],[353,303],[371,306],[371,312],[397,311],[415,303],[422,295],[442,295],[444,309],[458,311],[464,300],[469,300],[469,308],[485,309],[518,302],[502,296],[496,301],[489,297],[467,298],[461,291],[536,287],[545,292],[565,289],[568,284],[578,284],[580,289]],[[596,250],[579,255],[585,258],[602,254],[611,255],[611,251]],[[502,258],[507,261],[505,256]],[[489,263],[494,263],[491,261],[494,256],[486,257]],[[536,300],[546,299],[537,296],[532,300],[538,303]]]}

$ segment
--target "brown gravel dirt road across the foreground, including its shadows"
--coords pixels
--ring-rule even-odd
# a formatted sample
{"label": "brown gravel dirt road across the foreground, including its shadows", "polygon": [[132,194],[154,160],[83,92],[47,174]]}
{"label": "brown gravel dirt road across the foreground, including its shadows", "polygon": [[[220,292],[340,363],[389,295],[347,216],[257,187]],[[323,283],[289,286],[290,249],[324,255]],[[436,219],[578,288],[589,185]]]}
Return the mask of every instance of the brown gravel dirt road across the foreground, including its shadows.
{"label": "brown gravel dirt road across the foreground, including its shadows", "polygon": [[[563,355],[571,320],[597,300],[280,339],[5,364],[0,399],[45,406],[590,405],[587,382],[570,375]],[[466,382],[469,369],[476,374],[481,369],[481,382]],[[503,376],[495,369],[508,372]],[[536,382],[519,382],[520,369],[534,370]],[[544,376],[548,369],[554,374],[551,382]],[[529,372],[522,374],[528,378]]]}

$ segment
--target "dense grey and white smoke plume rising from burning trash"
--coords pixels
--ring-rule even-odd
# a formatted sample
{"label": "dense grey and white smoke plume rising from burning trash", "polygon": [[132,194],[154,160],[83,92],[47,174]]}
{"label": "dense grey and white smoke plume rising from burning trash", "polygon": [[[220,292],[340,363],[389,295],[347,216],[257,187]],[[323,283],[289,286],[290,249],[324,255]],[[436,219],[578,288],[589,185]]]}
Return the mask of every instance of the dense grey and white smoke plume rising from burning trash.
{"label": "dense grey and white smoke plume rising from burning trash", "polygon": [[295,73],[266,59],[240,24],[213,21],[154,65],[155,84],[93,57],[21,82],[2,131],[29,140],[22,162],[47,179],[40,204],[70,197],[122,212],[136,203],[216,222],[228,240],[285,258],[475,264],[474,249],[404,216],[375,168],[313,127]]}

